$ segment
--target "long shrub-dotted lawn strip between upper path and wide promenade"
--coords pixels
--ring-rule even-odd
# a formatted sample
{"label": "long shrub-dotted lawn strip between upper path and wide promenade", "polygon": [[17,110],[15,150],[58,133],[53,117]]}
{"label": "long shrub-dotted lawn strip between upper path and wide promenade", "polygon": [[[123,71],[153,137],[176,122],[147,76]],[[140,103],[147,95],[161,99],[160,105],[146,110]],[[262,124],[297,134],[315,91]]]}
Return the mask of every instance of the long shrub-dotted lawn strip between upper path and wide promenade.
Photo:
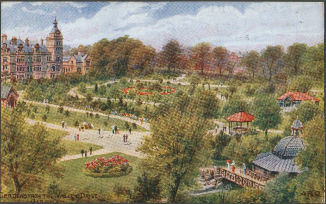
{"label": "long shrub-dotted lawn strip between upper path and wide promenade", "polygon": [[[61,125],[61,121],[66,121],[67,122],[67,126],[68,127],[75,127],[74,123],[76,122],[76,120],[78,120],[79,124],[82,124],[83,122],[86,122],[87,124],[89,122],[93,122],[94,124],[94,130],[97,130],[99,127],[102,127],[103,130],[108,130],[111,131],[111,126],[117,125],[119,127],[120,130],[127,130],[125,128],[125,121],[123,120],[119,120],[119,119],[115,119],[115,118],[109,118],[109,120],[107,120],[106,116],[100,116],[99,118],[95,118],[95,114],[93,116],[93,118],[87,117],[86,113],[80,113],[80,112],[75,112],[75,111],[69,111],[70,112],[70,116],[66,117],[64,113],[59,113],[58,112],[58,108],[50,108],[50,112],[47,113],[47,111],[45,110],[46,106],[43,105],[38,105],[38,104],[33,104],[34,106],[37,106],[38,110],[37,113],[34,113],[33,111],[31,112],[31,115],[34,114],[35,115],[35,119],[34,120],[38,120],[38,121],[42,121],[42,116],[44,114],[47,115],[47,123],[52,123],[52,124],[58,124]],[[31,118],[31,115],[29,116],[29,118]],[[104,122],[107,121],[108,122],[108,126],[104,125]],[[131,123],[129,123],[130,127],[131,127]],[[137,129],[134,129],[135,131],[147,131],[145,128],[138,126],[137,125]]]}

